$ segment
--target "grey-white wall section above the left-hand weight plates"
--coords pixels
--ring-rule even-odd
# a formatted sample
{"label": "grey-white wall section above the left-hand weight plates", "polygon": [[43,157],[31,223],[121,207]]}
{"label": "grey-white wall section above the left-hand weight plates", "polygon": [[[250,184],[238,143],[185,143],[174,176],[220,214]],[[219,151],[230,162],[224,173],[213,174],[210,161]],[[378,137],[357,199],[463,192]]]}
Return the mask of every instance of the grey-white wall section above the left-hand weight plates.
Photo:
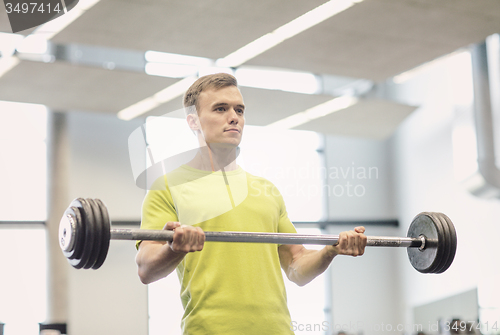
{"label": "grey-white wall section above the left-hand weight plates", "polygon": [[116,115],[70,113],[70,197],[99,198],[112,220],[139,220],[145,191],[136,187],[128,137],[142,120]]}

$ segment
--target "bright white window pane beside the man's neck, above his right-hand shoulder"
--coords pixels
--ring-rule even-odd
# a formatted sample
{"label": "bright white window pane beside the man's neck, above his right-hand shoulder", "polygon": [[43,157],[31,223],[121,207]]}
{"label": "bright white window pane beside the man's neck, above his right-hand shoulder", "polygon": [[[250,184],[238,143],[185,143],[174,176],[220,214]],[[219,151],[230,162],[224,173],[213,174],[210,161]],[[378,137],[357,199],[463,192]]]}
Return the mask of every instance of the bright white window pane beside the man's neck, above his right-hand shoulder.
{"label": "bright white window pane beside the man's neck, above his right-hand shoulder", "polygon": [[319,221],[325,216],[321,146],[315,132],[245,126],[238,164],[276,185],[292,222]]}

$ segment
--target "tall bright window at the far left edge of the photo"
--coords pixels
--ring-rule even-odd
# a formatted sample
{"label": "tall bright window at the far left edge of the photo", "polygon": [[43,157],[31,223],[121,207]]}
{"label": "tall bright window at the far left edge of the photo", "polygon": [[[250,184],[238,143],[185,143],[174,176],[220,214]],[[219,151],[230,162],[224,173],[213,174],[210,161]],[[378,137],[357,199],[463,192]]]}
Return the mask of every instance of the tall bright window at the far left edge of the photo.
{"label": "tall bright window at the far left edge of the photo", "polygon": [[[0,101],[0,322],[38,334],[46,317],[47,111]],[[6,224],[6,222],[8,224]]]}

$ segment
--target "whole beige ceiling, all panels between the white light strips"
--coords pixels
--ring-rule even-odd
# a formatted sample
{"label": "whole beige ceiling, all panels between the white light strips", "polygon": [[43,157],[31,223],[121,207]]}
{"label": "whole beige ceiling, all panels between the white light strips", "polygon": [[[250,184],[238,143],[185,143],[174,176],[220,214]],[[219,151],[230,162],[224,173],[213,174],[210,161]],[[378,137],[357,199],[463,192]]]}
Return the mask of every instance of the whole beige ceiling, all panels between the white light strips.
{"label": "whole beige ceiling, all panels between the white light strips", "polygon": [[[51,41],[215,60],[324,2],[101,0]],[[0,32],[11,32],[3,10]],[[377,84],[499,32],[500,0],[365,0],[244,65],[362,78]],[[40,103],[59,111],[116,114],[179,80],[64,61],[23,60],[0,77],[0,100]],[[267,125],[332,99],[327,94],[241,90],[247,124],[254,125]],[[147,115],[164,115],[180,107],[177,98]],[[367,99],[298,128],[385,138],[413,110],[388,100]],[[380,131],[369,130],[373,120]]]}

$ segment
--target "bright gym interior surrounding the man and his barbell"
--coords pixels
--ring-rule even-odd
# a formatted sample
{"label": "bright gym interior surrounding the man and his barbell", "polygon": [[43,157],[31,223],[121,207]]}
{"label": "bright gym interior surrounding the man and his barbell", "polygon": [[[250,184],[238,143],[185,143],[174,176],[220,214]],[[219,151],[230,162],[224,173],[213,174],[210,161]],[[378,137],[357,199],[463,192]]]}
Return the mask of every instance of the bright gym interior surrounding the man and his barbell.
{"label": "bright gym interior surrounding the man and his barbell", "polygon": [[139,228],[140,176],[186,150],[182,95],[216,72],[245,99],[238,164],[299,233],[406,237],[421,212],[456,230],[442,273],[367,247],[304,287],[285,277],[295,334],[500,333],[499,1],[70,7],[15,33],[0,10],[0,334],[181,334],[175,274],[142,284],[135,243],[113,239],[98,270],[75,269],[59,223],[92,198]]}

